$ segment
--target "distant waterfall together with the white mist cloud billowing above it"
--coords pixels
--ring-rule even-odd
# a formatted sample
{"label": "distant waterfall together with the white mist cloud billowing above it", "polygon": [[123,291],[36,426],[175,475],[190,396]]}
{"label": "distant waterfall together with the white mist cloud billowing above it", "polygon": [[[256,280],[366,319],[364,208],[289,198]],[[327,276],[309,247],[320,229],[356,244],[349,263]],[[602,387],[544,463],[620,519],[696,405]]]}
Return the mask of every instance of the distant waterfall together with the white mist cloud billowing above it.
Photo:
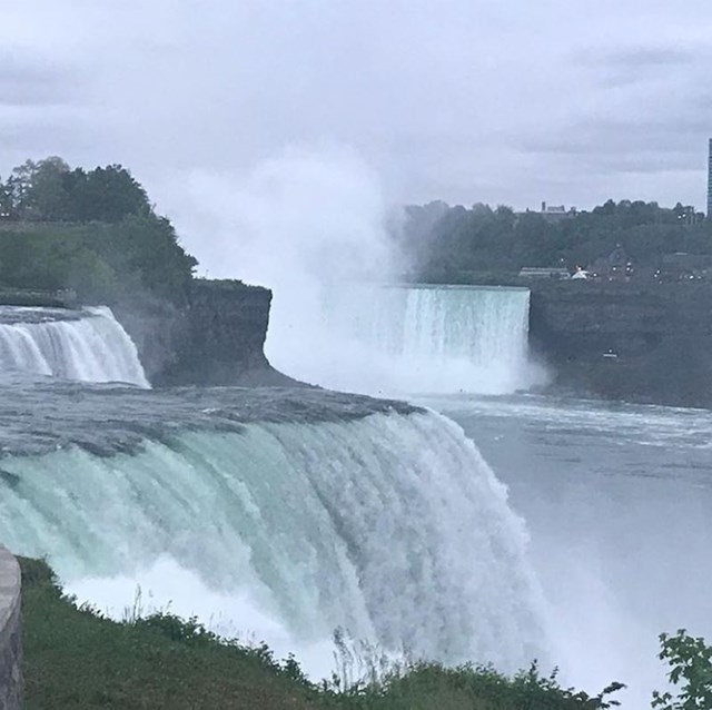
{"label": "distant waterfall together with the white mist cloud billowing above it", "polygon": [[543,379],[527,357],[525,292],[379,286],[408,263],[379,180],[353,151],[293,150],[248,176],[186,184],[171,213],[209,276],[273,289],[265,351],[286,374],[377,395],[504,394]]}

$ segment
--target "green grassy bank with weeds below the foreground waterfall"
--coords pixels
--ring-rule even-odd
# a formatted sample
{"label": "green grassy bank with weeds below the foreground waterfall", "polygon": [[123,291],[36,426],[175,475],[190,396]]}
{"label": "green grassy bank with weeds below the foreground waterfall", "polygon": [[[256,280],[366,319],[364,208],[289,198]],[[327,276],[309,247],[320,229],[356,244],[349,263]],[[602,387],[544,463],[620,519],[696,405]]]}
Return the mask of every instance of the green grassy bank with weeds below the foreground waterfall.
{"label": "green grassy bank with weeds below the foreground waterfall", "polygon": [[[411,664],[370,684],[314,684],[294,659],[217,638],[170,614],[117,623],[78,609],[43,562],[20,560],[27,710],[86,708],[575,710],[610,707],[541,678]],[[348,651],[342,649],[342,661]],[[373,667],[372,667],[373,670]],[[346,678],[346,673],[343,674]],[[345,686],[348,686],[345,688]],[[606,696],[607,697],[607,696]]]}

